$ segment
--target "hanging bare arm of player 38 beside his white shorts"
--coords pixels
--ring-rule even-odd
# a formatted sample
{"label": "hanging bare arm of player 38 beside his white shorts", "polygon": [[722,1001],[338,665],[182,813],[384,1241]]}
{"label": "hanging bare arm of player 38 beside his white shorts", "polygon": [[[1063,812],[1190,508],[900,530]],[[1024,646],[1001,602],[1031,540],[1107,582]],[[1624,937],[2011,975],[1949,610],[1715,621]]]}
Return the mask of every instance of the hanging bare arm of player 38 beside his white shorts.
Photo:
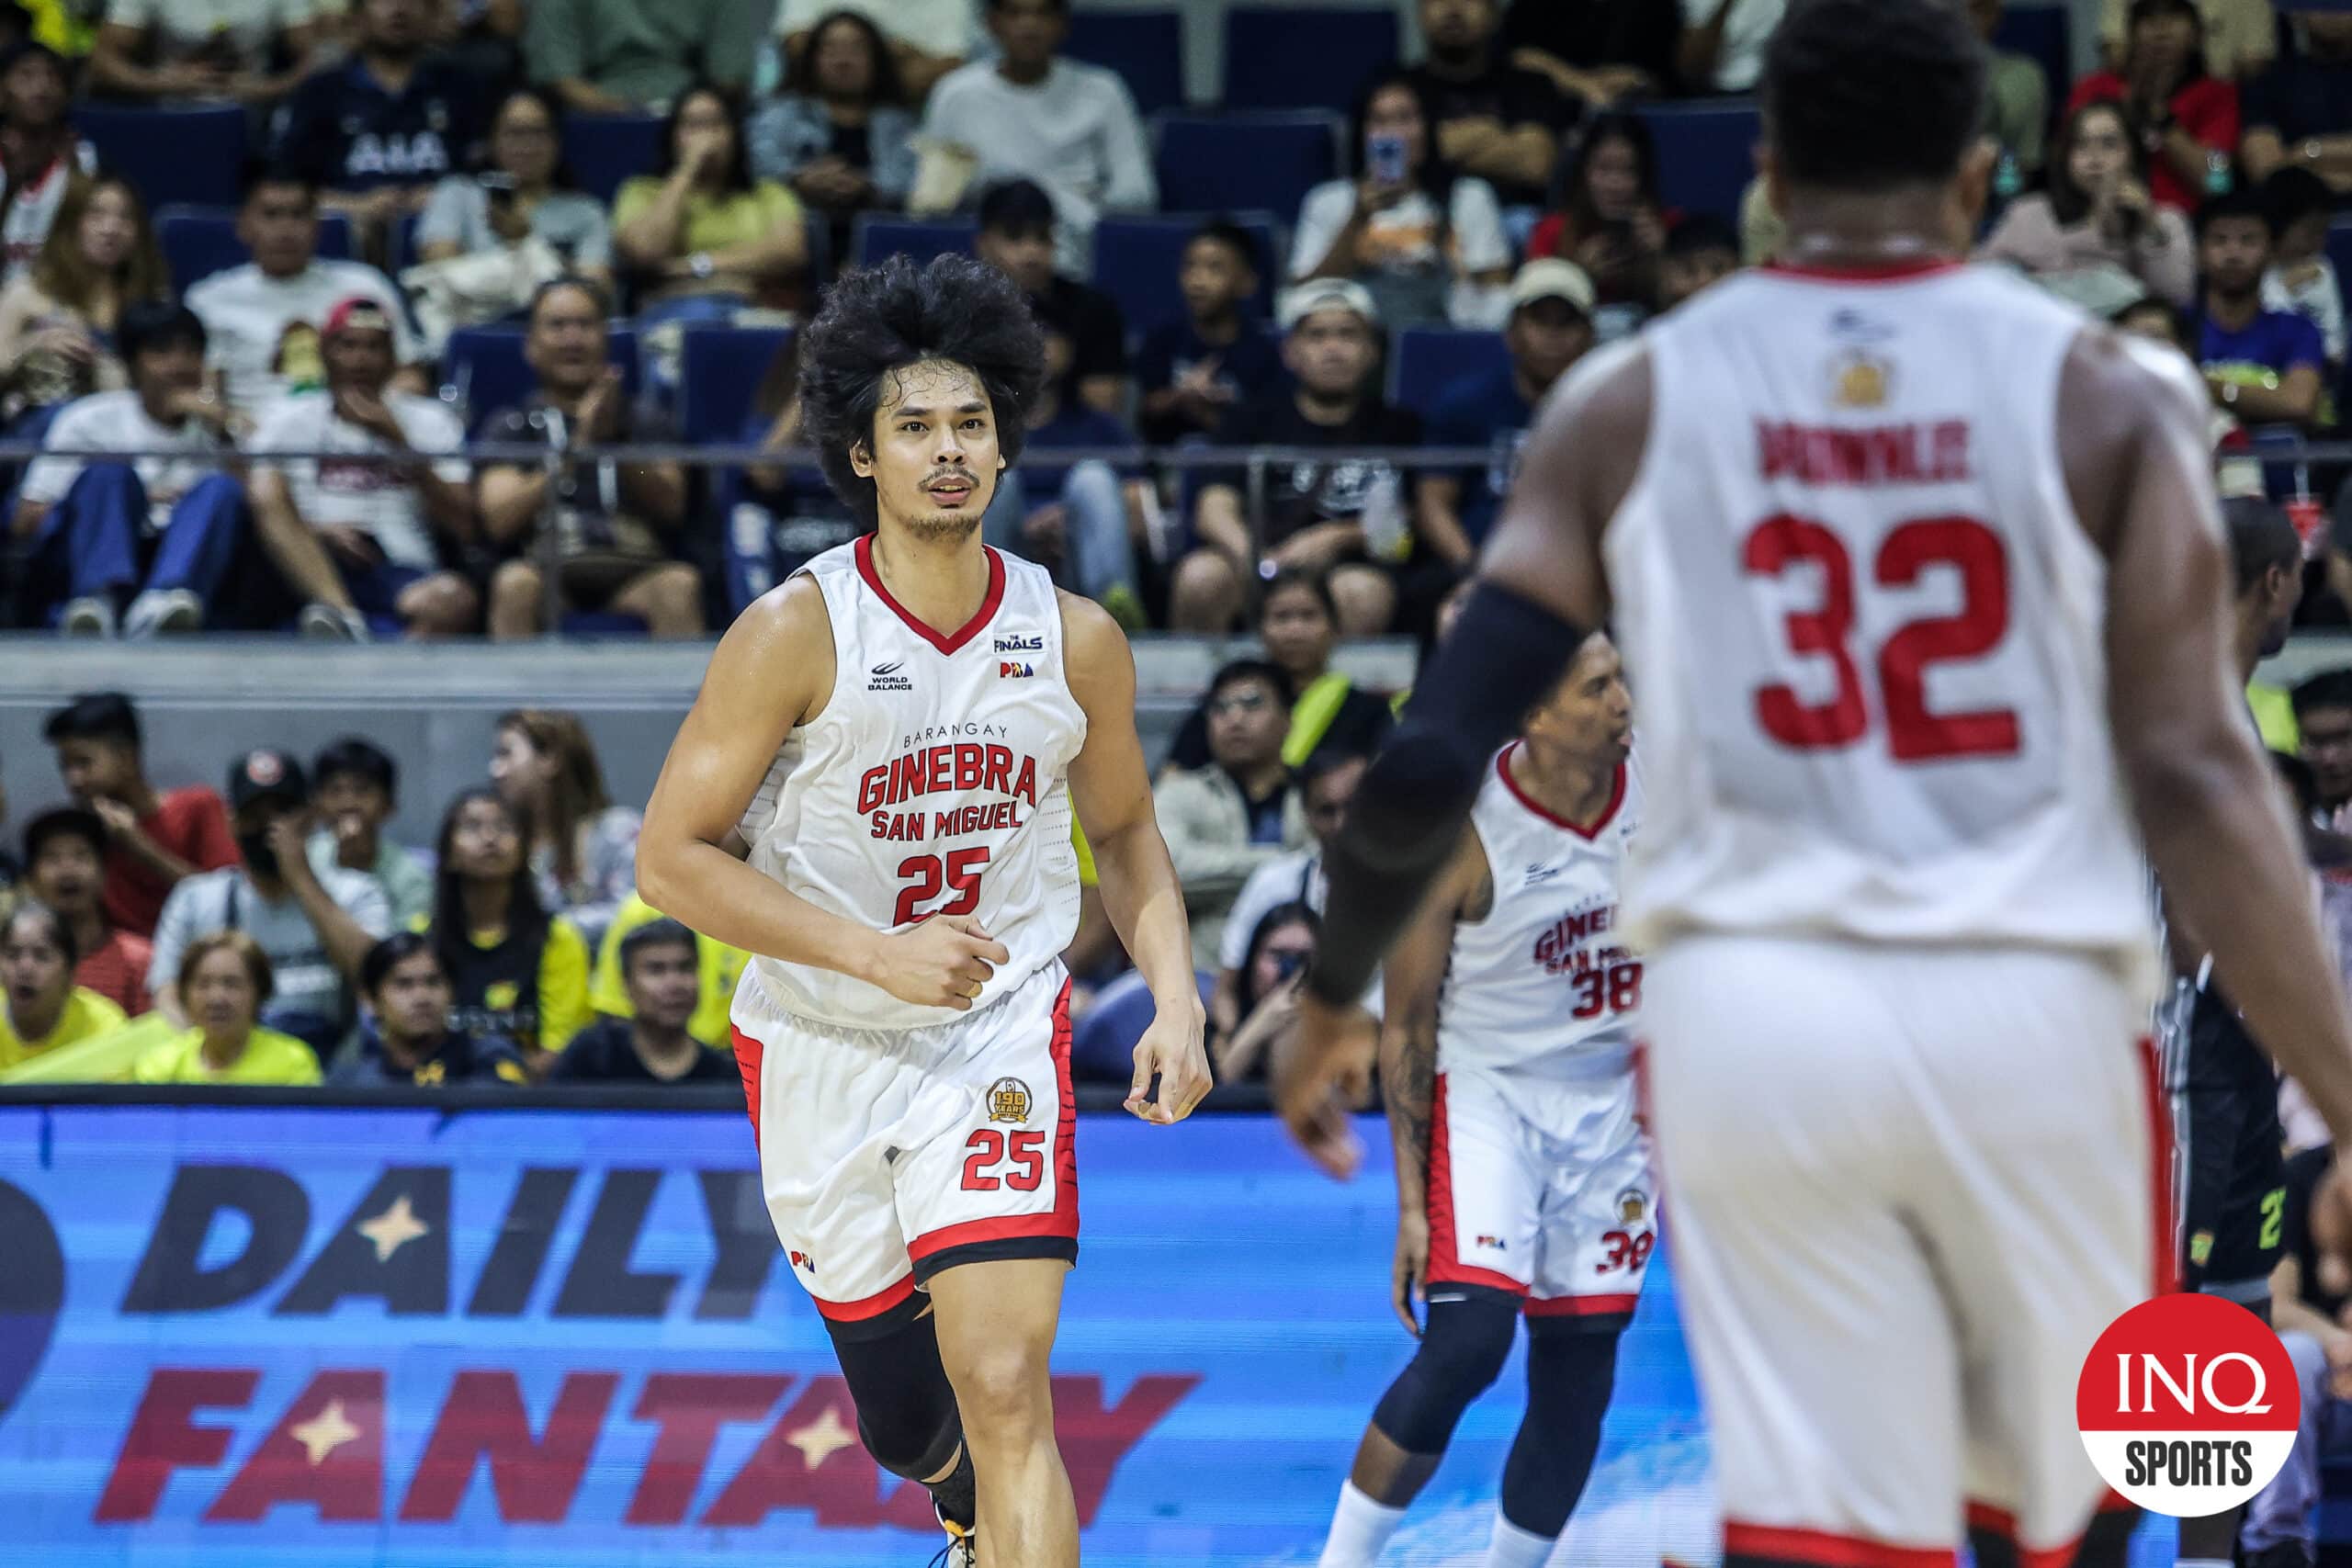
{"label": "hanging bare arm of player 38 beside his white shorts", "polygon": [[1388,1107],[1388,1143],[1397,1161],[1397,1260],[1390,1272],[1390,1305],[1411,1333],[1414,1291],[1428,1284],[1430,1265],[1430,1105],[1437,1084],[1437,997],[1444,990],[1454,924],[1470,919],[1491,898],[1486,853],[1477,832],[1463,827],[1461,849],[1430,898],[1397,938],[1381,971],[1381,1098]]}

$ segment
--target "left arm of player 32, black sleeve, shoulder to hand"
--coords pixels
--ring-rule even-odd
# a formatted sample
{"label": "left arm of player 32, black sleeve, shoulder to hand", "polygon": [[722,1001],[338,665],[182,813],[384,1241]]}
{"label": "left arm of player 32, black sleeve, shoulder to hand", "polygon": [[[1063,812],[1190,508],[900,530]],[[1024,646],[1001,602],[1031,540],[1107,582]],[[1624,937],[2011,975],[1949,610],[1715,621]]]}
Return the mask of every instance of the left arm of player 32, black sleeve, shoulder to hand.
{"label": "left arm of player 32, black sleeve, shoulder to hand", "polygon": [[1489,632],[1437,649],[1357,785],[1298,1046],[1275,1084],[1291,1135],[1338,1178],[1362,1159],[1341,1088],[1371,1072],[1374,1051],[1355,999],[1454,853],[1486,759],[1609,618],[1602,531],[1642,470],[1649,383],[1646,353],[1625,348],[1588,357],[1545,402],[1465,609]]}

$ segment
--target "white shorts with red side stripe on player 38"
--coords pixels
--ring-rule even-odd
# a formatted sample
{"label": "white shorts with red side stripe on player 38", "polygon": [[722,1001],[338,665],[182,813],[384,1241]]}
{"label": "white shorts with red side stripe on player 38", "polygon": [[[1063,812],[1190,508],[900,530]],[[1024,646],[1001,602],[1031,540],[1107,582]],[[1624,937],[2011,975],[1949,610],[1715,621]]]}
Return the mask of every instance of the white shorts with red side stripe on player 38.
{"label": "white shorts with red side stripe on player 38", "polygon": [[1623,1328],[1658,1232],[1632,1077],[1449,1067],[1430,1095],[1428,1291]]}

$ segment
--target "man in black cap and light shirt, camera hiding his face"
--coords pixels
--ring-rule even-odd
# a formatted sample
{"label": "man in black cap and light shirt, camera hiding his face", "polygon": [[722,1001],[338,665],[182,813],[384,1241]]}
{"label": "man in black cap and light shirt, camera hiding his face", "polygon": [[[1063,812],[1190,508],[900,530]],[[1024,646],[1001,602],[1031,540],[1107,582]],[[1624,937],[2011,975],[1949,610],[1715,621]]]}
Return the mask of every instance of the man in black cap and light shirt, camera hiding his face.
{"label": "man in black cap and light shirt, camera hiding his face", "polygon": [[148,990],[174,1025],[188,1011],[172,987],[188,943],[245,931],[268,954],[278,983],[261,1023],[308,1041],[322,1058],[343,1037],[343,987],[358,983],[367,950],[390,936],[393,905],[374,877],[341,865],[325,872],[303,853],[310,788],[280,750],[254,750],[228,771],[230,825],[242,867],[188,877],[162,905]]}

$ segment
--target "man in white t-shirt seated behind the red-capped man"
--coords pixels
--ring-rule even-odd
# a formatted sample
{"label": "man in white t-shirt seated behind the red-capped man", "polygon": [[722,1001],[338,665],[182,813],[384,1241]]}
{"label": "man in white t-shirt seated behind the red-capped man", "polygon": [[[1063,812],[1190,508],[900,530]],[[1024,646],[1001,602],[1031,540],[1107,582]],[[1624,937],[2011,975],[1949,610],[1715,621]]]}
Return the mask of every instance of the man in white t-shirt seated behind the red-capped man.
{"label": "man in white t-shirt seated behind the red-capped man", "polygon": [[[320,259],[318,186],[282,169],[254,176],[238,209],[238,237],[254,259],[193,284],[188,308],[212,336],[212,364],[240,414],[259,416],[273,397],[327,383],[318,327],[346,299],[379,306],[393,329],[395,364],[416,362],[393,280],[362,261]],[[402,371],[402,390],[423,390],[423,378]]]}

